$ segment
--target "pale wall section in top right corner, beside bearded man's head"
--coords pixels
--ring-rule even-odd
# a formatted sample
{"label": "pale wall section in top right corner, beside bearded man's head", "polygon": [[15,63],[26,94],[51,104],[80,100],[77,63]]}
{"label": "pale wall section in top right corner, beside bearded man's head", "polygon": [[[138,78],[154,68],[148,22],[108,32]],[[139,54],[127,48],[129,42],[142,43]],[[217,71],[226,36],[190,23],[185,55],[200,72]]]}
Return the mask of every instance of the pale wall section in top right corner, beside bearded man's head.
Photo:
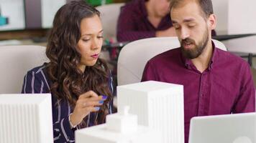
{"label": "pale wall section in top right corner, beside bearded man's head", "polygon": [[217,34],[256,33],[256,0],[212,0]]}

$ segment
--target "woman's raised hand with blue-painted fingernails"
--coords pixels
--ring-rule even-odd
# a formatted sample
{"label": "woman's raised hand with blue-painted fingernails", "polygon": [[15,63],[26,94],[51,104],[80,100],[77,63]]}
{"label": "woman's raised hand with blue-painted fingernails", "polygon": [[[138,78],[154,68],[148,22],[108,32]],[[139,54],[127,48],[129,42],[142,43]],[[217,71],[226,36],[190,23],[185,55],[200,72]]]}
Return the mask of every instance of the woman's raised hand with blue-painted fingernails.
{"label": "woman's raised hand with blue-painted fingernails", "polygon": [[76,106],[73,113],[70,115],[70,122],[73,125],[80,124],[84,117],[86,117],[90,112],[99,111],[100,107],[106,96],[98,96],[93,91],[81,94],[76,101]]}

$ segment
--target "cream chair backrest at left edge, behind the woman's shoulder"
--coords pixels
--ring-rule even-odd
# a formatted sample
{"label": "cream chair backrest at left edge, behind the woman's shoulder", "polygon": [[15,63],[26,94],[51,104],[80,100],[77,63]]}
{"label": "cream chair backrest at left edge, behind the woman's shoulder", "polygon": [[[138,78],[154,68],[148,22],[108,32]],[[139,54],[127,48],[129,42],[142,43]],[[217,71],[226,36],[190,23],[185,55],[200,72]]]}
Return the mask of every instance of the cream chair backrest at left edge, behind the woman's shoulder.
{"label": "cream chair backrest at left edge, behind the woman's shoulder", "polygon": [[0,46],[0,94],[22,92],[24,75],[45,61],[45,46]]}

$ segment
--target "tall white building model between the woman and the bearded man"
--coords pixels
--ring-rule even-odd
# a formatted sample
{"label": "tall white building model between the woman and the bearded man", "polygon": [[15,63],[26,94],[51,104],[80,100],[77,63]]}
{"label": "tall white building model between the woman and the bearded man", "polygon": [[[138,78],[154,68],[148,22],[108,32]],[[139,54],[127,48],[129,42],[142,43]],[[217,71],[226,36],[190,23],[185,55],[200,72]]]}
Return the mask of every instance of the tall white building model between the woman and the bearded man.
{"label": "tall white building model between the woman and the bearded man", "polygon": [[183,85],[140,82],[117,87],[117,109],[129,106],[138,123],[156,129],[163,143],[184,142]]}

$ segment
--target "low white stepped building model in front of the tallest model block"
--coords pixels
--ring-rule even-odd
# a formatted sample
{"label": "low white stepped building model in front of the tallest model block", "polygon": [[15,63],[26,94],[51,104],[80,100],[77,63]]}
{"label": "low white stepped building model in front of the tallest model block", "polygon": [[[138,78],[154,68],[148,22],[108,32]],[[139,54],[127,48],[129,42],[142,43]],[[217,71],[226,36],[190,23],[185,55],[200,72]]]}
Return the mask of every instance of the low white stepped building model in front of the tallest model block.
{"label": "low white stepped building model in front of the tallest model block", "polygon": [[76,130],[76,143],[156,143],[162,142],[159,132],[137,125],[137,115],[122,112],[106,116],[106,124]]}

